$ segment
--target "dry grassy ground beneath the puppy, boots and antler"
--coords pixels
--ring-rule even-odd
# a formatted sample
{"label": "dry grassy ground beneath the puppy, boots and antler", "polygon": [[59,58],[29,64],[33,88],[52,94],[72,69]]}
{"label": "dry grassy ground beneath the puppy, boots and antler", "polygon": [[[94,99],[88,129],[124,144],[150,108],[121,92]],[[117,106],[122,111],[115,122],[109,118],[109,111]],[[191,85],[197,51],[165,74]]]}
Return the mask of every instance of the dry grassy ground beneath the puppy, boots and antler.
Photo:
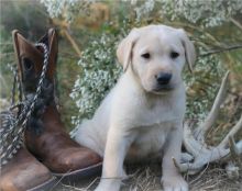
{"label": "dry grassy ground beneath the puppy, boots and antler", "polygon": [[[123,181],[121,191],[162,191],[161,166],[157,164],[132,166],[127,169],[129,179]],[[224,167],[208,166],[195,176],[184,175],[190,191],[242,191],[242,171],[238,179],[229,179]],[[91,177],[75,183],[58,182],[53,191],[92,191],[100,177]]]}

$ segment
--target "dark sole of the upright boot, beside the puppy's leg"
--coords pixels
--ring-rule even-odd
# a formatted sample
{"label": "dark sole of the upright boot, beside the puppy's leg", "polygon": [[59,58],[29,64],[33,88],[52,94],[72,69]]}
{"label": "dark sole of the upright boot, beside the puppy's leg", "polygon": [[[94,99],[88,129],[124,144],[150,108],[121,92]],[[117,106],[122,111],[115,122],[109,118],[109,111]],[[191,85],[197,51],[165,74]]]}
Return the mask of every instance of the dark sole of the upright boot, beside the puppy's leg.
{"label": "dark sole of the upright boot, beside the puppy's leg", "polygon": [[94,166],[75,170],[72,172],[66,172],[66,173],[53,173],[53,176],[57,177],[59,181],[63,183],[73,183],[73,182],[78,182],[80,179],[87,179],[92,177],[94,175],[100,176],[101,175],[101,168],[102,168],[102,162],[96,164]]}

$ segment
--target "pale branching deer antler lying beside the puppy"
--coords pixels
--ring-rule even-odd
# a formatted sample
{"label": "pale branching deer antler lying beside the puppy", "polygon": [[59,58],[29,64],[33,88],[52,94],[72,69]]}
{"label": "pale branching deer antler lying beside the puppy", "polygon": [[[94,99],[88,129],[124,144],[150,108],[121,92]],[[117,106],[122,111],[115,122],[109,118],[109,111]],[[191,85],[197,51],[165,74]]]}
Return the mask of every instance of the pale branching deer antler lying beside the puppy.
{"label": "pale branching deer antler lying beside the puppy", "polygon": [[184,146],[186,150],[194,156],[193,161],[183,158],[184,164],[176,161],[173,158],[175,166],[179,171],[188,172],[190,175],[199,172],[206,164],[213,162],[221,159],[227,159],[229,157],[237,157],[242,154],[242,139],[238,143],[234,142],[233,136],[242,130],[242,115],[239,122],[231,128],[229,134],[223,138],[223,141],[218,146],[207,146],[205,144],[206,132],[215,124],[216,119],[219,113],[219,108],[224,100],[226,90],[228,87],[229,71],[223,77],[221,87],[216,97],[215,103],[210,113],[208,114],[205,122],[198,126],[195,132],[191,132],[191,123],[185,123],[184,126]]}

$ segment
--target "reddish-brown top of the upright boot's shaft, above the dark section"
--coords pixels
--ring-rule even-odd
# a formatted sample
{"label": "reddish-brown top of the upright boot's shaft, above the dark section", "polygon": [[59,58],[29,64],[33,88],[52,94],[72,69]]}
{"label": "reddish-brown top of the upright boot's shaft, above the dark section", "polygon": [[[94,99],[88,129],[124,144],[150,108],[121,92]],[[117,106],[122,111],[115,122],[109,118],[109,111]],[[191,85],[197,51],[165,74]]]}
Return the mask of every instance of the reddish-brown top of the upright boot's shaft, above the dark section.
{"label": "reddish-brown top of the upright boot's shaft, above the dark section", "polygon": [[[34,92],[43,67],[43,49],[25,40],[19,31],[13,31],[12,36],[24,91],[25,93]],[[54,29],[48,30],[37,43],[44,43],[48,48],[46,79],[53,82],[58,52],[56,31]]]}

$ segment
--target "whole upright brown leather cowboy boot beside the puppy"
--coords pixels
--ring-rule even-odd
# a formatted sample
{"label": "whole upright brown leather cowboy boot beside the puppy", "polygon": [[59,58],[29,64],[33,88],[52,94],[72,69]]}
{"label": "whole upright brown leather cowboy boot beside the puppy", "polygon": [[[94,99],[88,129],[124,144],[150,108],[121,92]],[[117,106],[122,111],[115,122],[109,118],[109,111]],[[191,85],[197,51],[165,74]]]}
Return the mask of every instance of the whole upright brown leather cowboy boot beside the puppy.
{"label": "whole upright brown leather cowboy boot beside the puppy", "polygon": [[[43,67],[43,49],[29,43],[18,31],[13,31],[13,38],[24,94],[31,99]],[[26,125],[26,147],[56,176],[76,178],[100,171],[101,158],[69,137],[56,109],[54,74],[58,50],[55,30],[48,30],[38,43],[48,47],[50,58],[41,97]]]}

